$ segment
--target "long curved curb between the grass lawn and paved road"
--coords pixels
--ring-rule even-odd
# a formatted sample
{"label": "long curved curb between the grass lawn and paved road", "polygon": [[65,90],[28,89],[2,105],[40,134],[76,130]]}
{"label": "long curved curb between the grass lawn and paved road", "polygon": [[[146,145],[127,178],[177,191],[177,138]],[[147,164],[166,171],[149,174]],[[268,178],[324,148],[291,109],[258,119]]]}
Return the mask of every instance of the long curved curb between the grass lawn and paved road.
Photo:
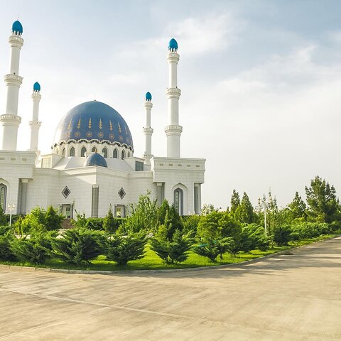
{"label": "long curved curb between the grass lawn and paved road", "polygon": [[318,240],[313,243],[301,245],[299,247],[292,247],[290,249],[285,249],[283,251],[275,252],[274,254],[267,254],[266,256],[261,256],[255,259],[249,259],[249,261],[241,261],[239,263],[232,264],[222,264],[222,265],[213,265],[213,266],[198,266],[197,268],[185,268],[185,269],[155,269],[155,270],[113,270],[113,271],[104,271],[104,270],[70,270],[70,269],[50,269],[50,268],[38,268],[32,266],[18,266],[18,265],[6,265],[0,264],[1,269],[8,269],[10,271],[28,271],[28,272],[52,272],[52,273],[60,273],[60,274],[85,274],[85,275],[115,275],[115,274],[162,274],[162,273],[175,273],[175,272],[191,272],[191,271],[204,271],[210,269],[224,269],[224,268],[233,268],[238,266],[244,266],[249,264],[258,263],[259,261],[264,261],[264,259],[269,259],[275,256],[281,256],[281,254],[291,254],[293,250],[301,250],[307,249],[314,244],[330,242],[332,239],[340,238],[341,235],[337,235],[336,237],[330,237],[327,239]]}

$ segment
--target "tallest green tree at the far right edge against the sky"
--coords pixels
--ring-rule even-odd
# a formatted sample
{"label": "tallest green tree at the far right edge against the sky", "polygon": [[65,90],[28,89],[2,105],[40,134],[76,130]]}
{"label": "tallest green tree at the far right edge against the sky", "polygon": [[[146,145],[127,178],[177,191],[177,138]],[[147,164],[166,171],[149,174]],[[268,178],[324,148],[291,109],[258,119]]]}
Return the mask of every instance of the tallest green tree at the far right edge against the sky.
{"label": "tallest green tree at the far right edge against the sky", "polygon": [[310,187],[305,187],[309,220],[330,223],[340,218],[340,205],[336,190],[325,179],[315,176]]}

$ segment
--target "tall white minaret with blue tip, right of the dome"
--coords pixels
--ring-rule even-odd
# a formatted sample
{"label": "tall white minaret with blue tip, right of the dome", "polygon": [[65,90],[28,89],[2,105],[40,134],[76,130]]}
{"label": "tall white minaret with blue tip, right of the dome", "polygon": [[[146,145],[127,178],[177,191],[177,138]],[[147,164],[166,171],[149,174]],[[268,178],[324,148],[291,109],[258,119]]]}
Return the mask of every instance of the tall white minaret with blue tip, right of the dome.
{"label": "tall white minaret with blue tip, right of the dome", "polygon": [[179,97],[178,89],[178,61],[180,56],[177,53],[178,43],[171,39],[168,45],[169,63],[169,85],[167,89],[168,97],[168,126],[165,128],[167,136],[167,157],[180,158],[180,136],[183,127],[179,126]]}

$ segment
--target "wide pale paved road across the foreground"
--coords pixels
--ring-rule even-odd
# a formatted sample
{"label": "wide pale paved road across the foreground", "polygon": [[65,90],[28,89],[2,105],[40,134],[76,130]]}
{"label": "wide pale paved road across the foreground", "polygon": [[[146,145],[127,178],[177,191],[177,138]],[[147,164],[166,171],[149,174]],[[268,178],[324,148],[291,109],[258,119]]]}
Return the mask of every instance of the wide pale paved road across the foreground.
{"label": "wide pale paved road across the foreground", "polygon": [[341,340],[341,237],[225,269],[0,268],[0,340]]}

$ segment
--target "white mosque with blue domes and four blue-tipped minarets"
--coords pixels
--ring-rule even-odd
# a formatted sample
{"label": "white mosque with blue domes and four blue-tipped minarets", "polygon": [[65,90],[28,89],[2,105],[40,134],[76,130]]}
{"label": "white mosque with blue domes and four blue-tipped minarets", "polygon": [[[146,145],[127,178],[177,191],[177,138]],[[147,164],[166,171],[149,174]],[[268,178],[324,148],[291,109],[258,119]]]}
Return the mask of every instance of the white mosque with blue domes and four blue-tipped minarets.
{"label": "white mosque with blue domes and four blue-tipped minarets", "polygon": [[[9,37],[11,48],[6,85],[6,112],[0,114],[0,205],[7,213],[25,214],[33,207],[59,207],[67,218],[77,212],[87,217],[104,217],[109,205],[116,217],[124,217],[139,195],[150,191],[159,204],[168,200],[180,215],[200,214],[201,185],[205,159],[181,158],[179,98],[177,82],[178,43],[168,45],[168,125],[165,128],[167,156],[153,156],[151,150],[151,93],[146,93],[144,155],[134,156],[134,144],[126,121],[102,102],[77,105],[61,119],[55,131],[51,153],[38,150],[40,85],[33,85],[33,114],[29,122],[31,141],[27,151],[17,150],[18,94],[23,26],[15,21]],[[166,115],[165,115],[166,116]],[[165,118],[166,120],[166,118]],[[51,131],[52,134],[52,131]]]}

